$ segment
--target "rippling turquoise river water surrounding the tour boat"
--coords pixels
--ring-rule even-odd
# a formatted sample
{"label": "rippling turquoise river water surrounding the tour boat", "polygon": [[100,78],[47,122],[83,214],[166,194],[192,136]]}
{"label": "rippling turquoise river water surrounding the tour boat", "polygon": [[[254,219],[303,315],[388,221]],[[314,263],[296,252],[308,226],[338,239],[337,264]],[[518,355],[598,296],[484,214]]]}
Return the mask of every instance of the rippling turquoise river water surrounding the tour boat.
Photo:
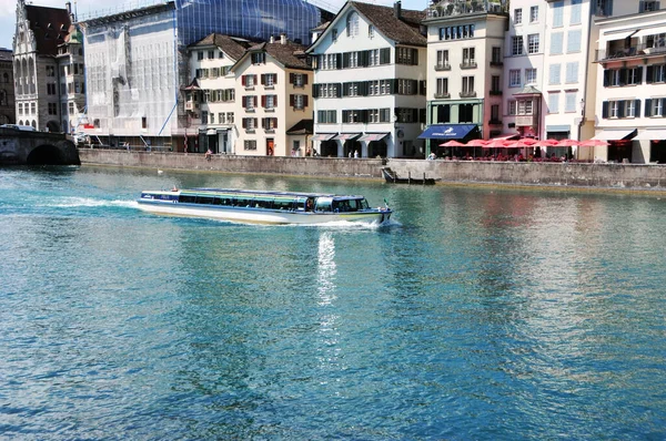
{"label": "rippling turquoise river water surrounding the tour boat", "polygon": [[[384,227],[140,212],[384,197]],[[0,170],[0,438],[664,440],[666,199]]]}

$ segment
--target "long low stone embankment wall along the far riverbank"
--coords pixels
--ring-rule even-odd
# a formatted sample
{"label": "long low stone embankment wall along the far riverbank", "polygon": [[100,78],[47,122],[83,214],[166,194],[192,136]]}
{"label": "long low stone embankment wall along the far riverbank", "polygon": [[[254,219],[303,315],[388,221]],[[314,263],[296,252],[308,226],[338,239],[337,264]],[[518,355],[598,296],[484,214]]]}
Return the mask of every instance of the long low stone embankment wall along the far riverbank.
{"label": "long low stone embankment wall along the far riverbank", "polygon": [[206,161],[203,154],[171,152],[127,152],[120,150],[79,151],[83,164],[266,173],[322,177],[382,178],[381,168],[391,167],[401,177],[433,177],[442,183],[511,184],[557,187],[598,187],[666,191],[666,165],[515,163],[424,160],[369,160],[336,157],[223,156]]}

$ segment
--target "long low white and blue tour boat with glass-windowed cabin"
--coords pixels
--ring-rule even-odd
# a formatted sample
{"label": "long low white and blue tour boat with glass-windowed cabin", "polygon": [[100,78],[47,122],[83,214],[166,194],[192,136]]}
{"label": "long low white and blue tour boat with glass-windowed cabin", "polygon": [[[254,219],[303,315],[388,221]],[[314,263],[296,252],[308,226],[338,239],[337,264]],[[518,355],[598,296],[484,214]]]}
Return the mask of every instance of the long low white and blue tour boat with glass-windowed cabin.
{"label": "long low white and blue tour boat with glass-windowed cabin", "polygon": [[226,188],[144,191],[137,202],[155,214],[252,224],[381,224],[393,213],[389,206],[370,207],[363,196]]}

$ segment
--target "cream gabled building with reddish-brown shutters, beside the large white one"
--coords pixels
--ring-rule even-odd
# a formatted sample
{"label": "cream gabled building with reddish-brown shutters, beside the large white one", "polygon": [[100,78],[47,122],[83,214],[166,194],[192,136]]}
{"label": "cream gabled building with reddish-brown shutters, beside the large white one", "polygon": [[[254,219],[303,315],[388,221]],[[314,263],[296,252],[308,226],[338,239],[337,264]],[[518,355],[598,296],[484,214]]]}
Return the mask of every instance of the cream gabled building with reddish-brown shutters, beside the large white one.
{"label": "cream gabled building with reddish-brown shutters, beside the large white one", "polygon": [[312,69],[304,51],[282,34],[249,48],[232,68],[236,155],[305,155],[312,135]]}

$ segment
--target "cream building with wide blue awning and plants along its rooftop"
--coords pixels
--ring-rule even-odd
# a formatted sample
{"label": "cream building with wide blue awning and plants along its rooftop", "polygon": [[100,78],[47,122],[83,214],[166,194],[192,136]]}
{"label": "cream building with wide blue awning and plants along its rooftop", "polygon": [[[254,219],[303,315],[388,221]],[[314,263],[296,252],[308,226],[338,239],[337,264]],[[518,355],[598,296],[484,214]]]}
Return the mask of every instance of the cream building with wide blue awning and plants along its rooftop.
{"label": "cream building with wide blue awning and plants along its rooftop", "polygon": [[427,130],[431,150],[446,140],[490,139],[503,132],[505,7],[444,0],[427,19]]}

